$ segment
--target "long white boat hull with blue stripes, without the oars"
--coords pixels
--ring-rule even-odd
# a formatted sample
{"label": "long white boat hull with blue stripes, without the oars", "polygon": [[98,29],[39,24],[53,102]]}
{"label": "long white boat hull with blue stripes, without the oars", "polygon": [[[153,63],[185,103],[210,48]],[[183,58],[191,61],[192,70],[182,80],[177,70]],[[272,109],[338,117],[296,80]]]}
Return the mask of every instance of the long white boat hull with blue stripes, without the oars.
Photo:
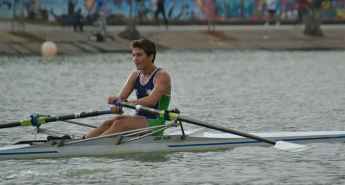
{"label": "long white boat hull with blue stripes, without the oars", "polygon": [[[345,131],[323,132],[266,132],[252,133],[273,140],[293,143],[344,142]],[[126,137],[128,141],[134,137]],[[69,144],[72,140],[53,140],[41,143],[13,144],[0,147],[0,159],[57,158],[70,156],[99,156],[147,152],[210,151],[239,146],[271,146],[270,144],[228,133],[210,133],[203,129],[163,136],[147,136],[138,140],[117,144],[117,138],[101,138]]]}

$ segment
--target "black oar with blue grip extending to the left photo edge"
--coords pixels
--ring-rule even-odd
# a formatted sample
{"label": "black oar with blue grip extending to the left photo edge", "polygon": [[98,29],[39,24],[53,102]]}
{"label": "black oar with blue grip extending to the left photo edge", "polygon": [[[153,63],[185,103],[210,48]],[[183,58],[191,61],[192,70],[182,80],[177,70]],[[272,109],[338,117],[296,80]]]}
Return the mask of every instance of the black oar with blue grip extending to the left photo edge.
{"label": "black oar with blue grip extending to the left photo edge", "polygon": [[19,122],[1,124],[0,128],[29,126],[29,125],[35,126],[35,125],[41,125],[41,124],[49,123],[49,122],[88,118],[88,117],[95,117],[95,116],[106,115],[106,114],[112,114],[112,112],[110,110],[100,110],[100,111],[82,112],[82,113],[55,116],[55,117],[37,117],[37,118],[28,119],[28,120],[22,120]]}

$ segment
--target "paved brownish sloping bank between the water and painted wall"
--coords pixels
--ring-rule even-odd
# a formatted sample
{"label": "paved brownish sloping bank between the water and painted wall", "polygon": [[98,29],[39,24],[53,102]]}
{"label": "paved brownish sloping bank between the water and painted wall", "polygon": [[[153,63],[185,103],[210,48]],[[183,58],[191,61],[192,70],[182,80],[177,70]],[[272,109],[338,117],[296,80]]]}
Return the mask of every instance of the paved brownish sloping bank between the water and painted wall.
{"label": "paved brownish sloping bank between the water and painted wall", "polygon": [[[40,54],[41,45],[56,43],[58,54],[130,52],[129,40],[118,34],[126,26],[108,26],[115,42],[89,41],[92,27],[74,32],[71,27],[25,24],[26,35],[11,33],[11,22],[0,21],[0,55]],[[215,32],[207,25],[137,26],[140,34],[165,50],[344,50],[345,25],[322,25],[323,38],[303,34],[303,26],[218,25]]]}

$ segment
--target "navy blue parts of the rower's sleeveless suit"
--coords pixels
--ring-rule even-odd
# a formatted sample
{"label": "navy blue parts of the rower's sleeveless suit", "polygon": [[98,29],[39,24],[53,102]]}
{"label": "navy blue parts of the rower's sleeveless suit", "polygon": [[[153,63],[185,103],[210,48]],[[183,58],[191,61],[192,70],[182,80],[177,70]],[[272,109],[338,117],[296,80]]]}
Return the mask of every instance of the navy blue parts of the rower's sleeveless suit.
{"label": "navy blue parts of the rower's sleeveless suit", "polygon": [[[157,75],[157,72],[159,72],[162,68],[157,68],[155,70],[155,72],[151,75],[150,79],[147,81],[146,84],[142,84],[140,82],[140,76],[142,74],[142,70],[139,72],[139,75],[136,77],[135,79],[135,94],[136,94],[136,98],[137,99],[140,99],[140,98],[143,98],[143,97],[146,97],[146,96],[149,96],[152,89],[155,87],[154,85],[154,79]],[[166,95],[165,95],[166,96]],[[151,108],[155,108],[155,109],[160,109],[160,108],[167,108],[167,107],[162,107],[160,106],[160,103],[161,103],[161,100],[162,98],[156,103],[155,106],[151,107]],[[170,100],[170,99],[169,99]],[[165,104],[165,103],[164,103]],[[151,115],[151,114],[147,114],[147,113],[142,113],[142,112],[136,112],[135,115],[137,116],[144,116],[146,117],[147,119],[150,119],[150,120],[155,120],[157,119],[157,116],[156,115]]]}

